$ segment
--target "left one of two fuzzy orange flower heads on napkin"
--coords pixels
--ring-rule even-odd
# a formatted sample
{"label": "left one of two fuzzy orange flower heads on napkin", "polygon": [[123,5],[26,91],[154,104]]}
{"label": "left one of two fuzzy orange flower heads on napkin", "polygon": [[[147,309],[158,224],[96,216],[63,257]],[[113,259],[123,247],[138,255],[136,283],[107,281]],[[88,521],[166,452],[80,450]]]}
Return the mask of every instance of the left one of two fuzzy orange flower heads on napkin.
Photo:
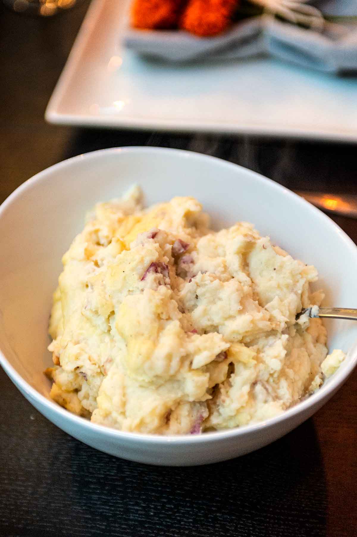
{"label": "left one of two fuzzy orange flower heads on napkin", "polygon": [[185,4],[187,0],[134,0],[131,24],[146,30],[174,28]]}

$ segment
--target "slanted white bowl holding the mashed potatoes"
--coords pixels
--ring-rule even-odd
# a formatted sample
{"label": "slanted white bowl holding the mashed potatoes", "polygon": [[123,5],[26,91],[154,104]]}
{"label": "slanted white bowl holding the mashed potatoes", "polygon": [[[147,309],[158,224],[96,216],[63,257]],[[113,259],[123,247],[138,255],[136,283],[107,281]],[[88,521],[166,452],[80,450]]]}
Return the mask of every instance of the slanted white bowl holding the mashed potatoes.
{"label": "slanted white bowl holding the mashed potatoes", "polygon": [[263,423],[202,436],[159,437],[116,431],[72,415],[49,399],[43,370],[51,294],[61,257],[95,202],[142,185],[147,204],[197,197],[215,227],[237,220],[304,262],[314,264],[331,306],[357,307],[357,248],[326,215],[286,188],[220,159],[158,148],[118,148],[79,155],[38,173],[0,207],[0,362],[21,393],[51,422],[101,451],[154,465],[202,465],[243,455],[294,429],[316,412],[357,362],[357,323],[329,322],[329,346],[351,350],[339,370],[307,400]]}

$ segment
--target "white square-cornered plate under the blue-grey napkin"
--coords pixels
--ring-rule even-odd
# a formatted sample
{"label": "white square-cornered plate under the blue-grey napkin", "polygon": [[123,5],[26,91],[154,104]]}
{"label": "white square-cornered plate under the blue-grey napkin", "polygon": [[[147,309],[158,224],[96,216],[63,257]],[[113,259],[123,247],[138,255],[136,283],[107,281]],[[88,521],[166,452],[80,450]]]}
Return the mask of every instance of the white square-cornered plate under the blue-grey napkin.
{"label": "white square-cornered plate under the blue-grey napkin", "polygon": [[93,0],[52,123],[357,141],[357,78],[251,59],[169,66],[121,46],[130,0]]}

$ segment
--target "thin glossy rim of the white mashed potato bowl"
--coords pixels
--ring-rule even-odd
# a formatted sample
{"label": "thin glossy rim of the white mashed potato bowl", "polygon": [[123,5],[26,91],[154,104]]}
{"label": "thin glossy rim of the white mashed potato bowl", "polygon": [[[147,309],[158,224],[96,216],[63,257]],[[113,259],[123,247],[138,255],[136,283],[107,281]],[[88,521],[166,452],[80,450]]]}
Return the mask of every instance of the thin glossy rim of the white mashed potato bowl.
{"label": "thin glossy rim of the white mashed potato bowl", "polygon": [[[72,164],[76,164],[80,161],[84,160],[91,160],[91,159],[97,159],[97,158],[106,158],[107,155],[120,155],[120,154],[167,154],[167,155],[177,155],[178,157],[182,158],[191,158],[191,159],[197,159],[197,160],[204,160],[204,161],[211,161],[212,163],[215,163],[218,166],[223,166],[224,168],[229,169],[235,169],[237,171],[243,172],[246,176],[250,176],[252,180],[255,180],[257,183],[261,183],[264,185],[269,184],[269,186],[273,189],[273,191],[279,191],[284,192],[285,195],[288,197],[294,198],[295,202],[298,202],[302,207],[307,207],[310,212],[313,212],[313,214],[321,219],[323,222],[325,222],[331,229],[331,231],[334,231],[339,235],[339,238],[345,243],[347,248],[350,250],[353,250],[354,256],[356,258],[356,265],[357,265],[357,245],[352,241],[350,237],[343,231],[333,220],[330,219],[330,217],[326,214],[324,214],[322,211],[311,205],[308,201],[301,198],[298,194],[295,194],[291,190],[288,190],[285,186],[282,186],[276,182],[274,182],[272,179],[269,179],[260,173],[257,173],[255,171],[249,170],[247,168],[244,168],[244,166],[241,166],[239,164],[234,164],[232,162],[225,161],[224,159],[213,157],[211,155],[205,155],[201,153],[196,153],[195,151],[188,151],[183,149],[173,149],[173,148],[161,148],[161,147],[142,147],[142,146],[129,146],[129,147],[116,147],[116,148],[108,148],[108,149],[99,149],[96,151],[90,151],[88,153],[80,154],[68,159],[65,159],[64,161],[58,162],[52,166],[49,166],[49,168],[46,168],[38,173],[36,173],[33,177],[27,179],[24,183],[22,183],[20,186],[16,188],[9,196],[6,198],[3,203],[0,205],[0,220],[2,217],[2,214],[6,211],[6,209],[14,202],[16,199],[25,192],[28,188],[32,188],[38,183],[42,183],[46,180],[48,180],[51,176],[51,173],[54,171],[58,171],[61,169],[68,168],[68,166],[72,166]],[[129,432],[129,431],[121,431],[114,429],[113,427],[109,427],[106,425],[100,425],[96,423],[92,423],[86,418],[77,416],[70,411],[60,407],[58,404],[56,404],[54,401],[51,401],[46,396],[42,395],[38,390],[33,388],[17,371],[14,369],[14,367],[10,364],[9,360],[5,357],[5,355],[0,351],[0,364],[2,365],[4,371],[10,379],[13,381],[13,383],[16,385],[16,387],[25,395],[27,400],[32,403],[32,401],[36,401],[39,404],[39,407],[46,407],[46,409],[52,413],[54,412],[58,418],[64,418],[64,420],[68,420],[68,422],[71,422],[73,426],[78,426],[79,429],[85,429],[87,433],[92,434],[99,434],[101,436],[107,436],[111,439],[117,439],[117,440],[127,440],[127,441],[135,441],[135,442],[144,442],[152,445],[182,445],[182,444],[202,444],[206,442],[214,443],[217,441],[220,441],[222,439],[229,439],[232,437],[241,437],[246,436],[246,434],[249,433],[258,433],[259,431],[266,430],[267,428],[271,428],[274,425],[278,425],[281,422],[285,422],[289,418],[294,418],[299,413],[303,413],[310,407],[314,407],[318,405],[322,400],[325,400],[325,398],[329,398],[329,396],[332,396],[334,391],[336,391],[348,378],[348,376],[352,373],[353,369],[357,365],[357,351],[354,351],[353,355],[351,356],[352,351],[348,351],[348,357],[349,361],[346,363],[344,362],[344,367],[340,367],[336,373],[333,374],[331,379],[329,380],[328,384],[323,384],[321,388],[319,388],[314,394],[311,394],[303,401],[300,401],[299,403],[296,403],[293,407],[283,411],[278,416],[266,419],[262,422],[257,422],[250,425],[243,425],[241,427],[233,427],[232,429],[224,429],[219,431],[211,431],[211,432],[205,432],[204,434],[177,434],[172,436],[163,436],[159,434],[148,434],[148,433],[137,433],[137,432]],[[32,403],[33,404],[33,403]],[[34,405],[36,407],[36,405]],[[41,412],[41,411],[40,411]],[[49,418],[48,418],[49,419]],[[74,428],[74,427],[73,427]]]}

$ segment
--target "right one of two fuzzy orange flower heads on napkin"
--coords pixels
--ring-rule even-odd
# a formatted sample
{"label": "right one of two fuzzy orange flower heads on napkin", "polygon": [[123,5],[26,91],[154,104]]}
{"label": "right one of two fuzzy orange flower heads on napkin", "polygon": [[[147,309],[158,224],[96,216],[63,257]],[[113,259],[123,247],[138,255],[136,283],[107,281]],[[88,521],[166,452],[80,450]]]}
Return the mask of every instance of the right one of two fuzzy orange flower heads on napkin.
{"label": "right one of two fuzzy orange flower heads on napkin", "polygon": [[217,35],[229,26],[239,0],[189,0],[180,26],[199,37]]}

